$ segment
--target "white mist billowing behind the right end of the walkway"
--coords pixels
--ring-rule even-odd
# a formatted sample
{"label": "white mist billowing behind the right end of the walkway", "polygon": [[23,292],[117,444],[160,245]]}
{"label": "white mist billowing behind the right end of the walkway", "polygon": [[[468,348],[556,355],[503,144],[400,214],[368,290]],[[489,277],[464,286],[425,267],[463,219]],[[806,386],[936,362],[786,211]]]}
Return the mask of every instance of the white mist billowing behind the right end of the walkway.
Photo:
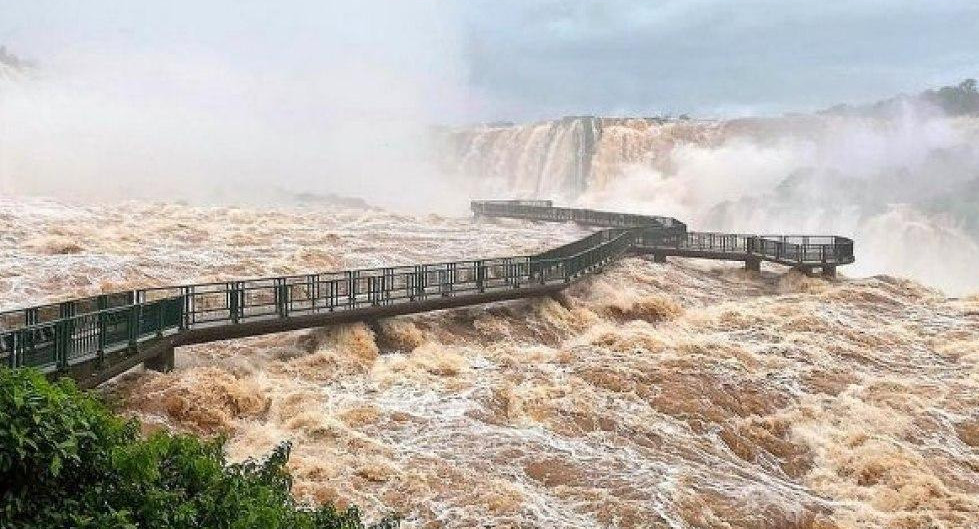
{"label": "white mist billowing behind the right end of the walkway", "polygon": [[776,136],[680,144],[668,170],[627,164],[578,202],[673,215],[700,230],[844,235],[857,241],[848,274],[979,291],[979,120],[905,103],[886,118],[804,121]]}

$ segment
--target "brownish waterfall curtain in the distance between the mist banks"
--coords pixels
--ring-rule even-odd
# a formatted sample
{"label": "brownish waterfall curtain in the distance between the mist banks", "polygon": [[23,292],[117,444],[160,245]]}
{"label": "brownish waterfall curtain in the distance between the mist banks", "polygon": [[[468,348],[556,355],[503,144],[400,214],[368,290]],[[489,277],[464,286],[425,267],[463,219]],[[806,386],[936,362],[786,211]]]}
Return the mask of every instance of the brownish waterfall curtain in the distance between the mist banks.
{"label": "brownish waterfall curtain in the distance between the mist banks", "polygon": [[444,171],[487,196],[574,201],[629,165],[665,170],[678,142],[705,143],[709,122],[567,116],[442,131]]}

